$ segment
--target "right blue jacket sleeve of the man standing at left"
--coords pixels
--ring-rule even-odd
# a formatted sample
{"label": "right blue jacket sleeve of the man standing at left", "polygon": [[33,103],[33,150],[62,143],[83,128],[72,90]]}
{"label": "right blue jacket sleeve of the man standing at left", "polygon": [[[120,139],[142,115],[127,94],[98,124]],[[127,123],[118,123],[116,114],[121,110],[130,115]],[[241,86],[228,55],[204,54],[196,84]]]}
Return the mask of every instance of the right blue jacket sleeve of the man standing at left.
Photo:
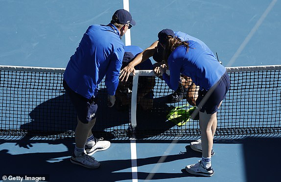
{"label": "right blue jacket sleeve of the man standing at left", "polygon": [[122,60],[124,56],[124,47],[118,48],[112,58],[105,76],[105,86],[109,95],[115,95],[119,83],[119,72],[122,66]]}

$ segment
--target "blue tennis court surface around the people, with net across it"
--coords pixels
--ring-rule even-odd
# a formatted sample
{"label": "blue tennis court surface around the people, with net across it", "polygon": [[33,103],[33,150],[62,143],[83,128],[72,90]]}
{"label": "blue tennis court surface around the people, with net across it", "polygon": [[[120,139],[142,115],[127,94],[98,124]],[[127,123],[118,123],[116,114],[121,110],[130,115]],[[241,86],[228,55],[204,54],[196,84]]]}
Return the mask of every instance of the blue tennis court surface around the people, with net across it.
{"label": "blue tennis court surface around the people, with net across it", "polygon": [[[185,99],[165,102],[172,91],[157,78],[149,111],[137,104],[107,108],[102,82],[93,132],[112,145],[94,154],[98,169],[70,162],[76,114],[62,73],[87,27],[109,23],[116,9],[128,6],[137,25],[122,39],[126,45],[145,48],[160,30],[171,28],[204,41],[228,69],[231,89],[218,113],[211,178],[185,171],[201,159],[189,147],[200,138],[198,121],[188,119],[192,107]],[[280,8],[278,0],[0,1],[2,180],[26,175],[28,181],[51,182],[280,181]]]}

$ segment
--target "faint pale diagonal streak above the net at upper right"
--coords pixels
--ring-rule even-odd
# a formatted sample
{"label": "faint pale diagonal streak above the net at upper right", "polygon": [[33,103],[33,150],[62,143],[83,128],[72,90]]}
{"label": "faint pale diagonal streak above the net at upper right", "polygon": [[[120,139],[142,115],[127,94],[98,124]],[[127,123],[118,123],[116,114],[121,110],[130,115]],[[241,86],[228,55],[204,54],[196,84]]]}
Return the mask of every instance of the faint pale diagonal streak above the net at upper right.
{"label": "faint pale diagonal streak above the net at upper right", "polygon": [[252,28],[251,32],[247,35],[247,37],[245,38],[245,40],[243,41],[243,43],[239,46],[239,48],[236,50],[236,52],[234,53],[233,57],[230,59],[229,63],[227,64],[226,67],[231,67],[233,65],[233,63],[235,62],[235,60],[237,59],[237,57],[241,54],[242,50],[245,48],[245,46],[248,44],[248,42],[250,41],[250,39],[253,37],[253,35],[255,34],[255,32],[258,30],[258,27],[260,26],[260,24],[264,21],[264,19],[266,18],[266,16],[268,15],[268,13],[271,11],[271,9],[273,8],[273,6],[275,5],[275,3],[277,2],[277,0],[272,0],[271,3],[268,5],[268,7],[266,8],[266,10],[264,11],[264,13],[261,15],[261,17],[259,18],[258,22],[255,24],[255,26]]}

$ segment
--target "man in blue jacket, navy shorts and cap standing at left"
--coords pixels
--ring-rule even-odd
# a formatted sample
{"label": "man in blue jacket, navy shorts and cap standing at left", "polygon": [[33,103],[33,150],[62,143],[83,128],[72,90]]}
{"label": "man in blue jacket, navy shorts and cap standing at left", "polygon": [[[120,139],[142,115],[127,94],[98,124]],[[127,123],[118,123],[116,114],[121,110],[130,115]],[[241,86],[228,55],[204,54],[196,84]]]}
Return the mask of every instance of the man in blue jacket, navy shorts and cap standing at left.
{"label": "man in blue jacket, navy shorts and cap standing at left", "polygon": [[63,85],[77,112],[75,149],[70,158],[74,164],[98,168],[100,163],[90,155],[110,147],[109,141],[97,139],[92,134],[97,110],[95,97],[105,77],[108,106],[114,105],[124,55],[124,44],[120,39],[135,24],[128,11],[117,10],[108,25],[89,26],[70,57]]}

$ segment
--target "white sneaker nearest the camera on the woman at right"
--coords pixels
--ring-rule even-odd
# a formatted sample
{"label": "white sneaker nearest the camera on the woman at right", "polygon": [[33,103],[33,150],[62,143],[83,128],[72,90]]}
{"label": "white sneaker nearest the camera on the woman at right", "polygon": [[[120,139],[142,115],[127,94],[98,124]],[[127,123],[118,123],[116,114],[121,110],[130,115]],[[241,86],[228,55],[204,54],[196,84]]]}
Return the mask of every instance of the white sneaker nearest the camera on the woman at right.
{"label": "white sneaker nearest the camera on the woman at right", "polygon": [[201,160],[199,160],[199,162],[196,164],[187,165],[186,171],[190,174],[207,176],[207,177],[211,177],[214,174],[212,167],[209,167],[209,169],[205,169],[203,167],[203,163],[201,162]]}

